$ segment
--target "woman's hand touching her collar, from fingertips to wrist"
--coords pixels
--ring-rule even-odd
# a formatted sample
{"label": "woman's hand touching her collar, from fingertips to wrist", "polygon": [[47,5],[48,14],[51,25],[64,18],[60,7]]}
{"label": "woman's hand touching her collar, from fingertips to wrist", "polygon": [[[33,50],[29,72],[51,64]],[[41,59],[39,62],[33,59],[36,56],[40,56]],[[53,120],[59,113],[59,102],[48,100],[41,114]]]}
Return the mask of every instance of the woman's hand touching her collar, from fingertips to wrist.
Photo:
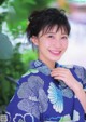
{"label": "woman's hand touching her collar, from fingertips to wrist", "polygon": [[76,89],[76,86],[80,86],[80,83],[76,81],[69,69],[60,67],[55,68],[52,70],[51,76],[54,77],[54,79],[62,80],[73,91]]}

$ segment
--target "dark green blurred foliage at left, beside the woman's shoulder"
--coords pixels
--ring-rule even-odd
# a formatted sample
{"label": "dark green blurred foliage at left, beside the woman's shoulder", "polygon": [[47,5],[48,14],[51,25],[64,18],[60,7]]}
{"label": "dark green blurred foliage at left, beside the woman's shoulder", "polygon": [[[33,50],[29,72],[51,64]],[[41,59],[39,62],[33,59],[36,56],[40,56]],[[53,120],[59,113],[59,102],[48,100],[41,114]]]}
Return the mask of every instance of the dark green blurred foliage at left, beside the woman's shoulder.
{"label": "dark green blurred foliage at left, beside the woman's shoulder", "polygon": [[37,53],[32,50],[19,53],[20,43],[14,48],[11,59],[0,59],[0,108],[5,110],[5,106],[12,98],[17,85],[17,81],[29,70],[29,63],[37,59]]}

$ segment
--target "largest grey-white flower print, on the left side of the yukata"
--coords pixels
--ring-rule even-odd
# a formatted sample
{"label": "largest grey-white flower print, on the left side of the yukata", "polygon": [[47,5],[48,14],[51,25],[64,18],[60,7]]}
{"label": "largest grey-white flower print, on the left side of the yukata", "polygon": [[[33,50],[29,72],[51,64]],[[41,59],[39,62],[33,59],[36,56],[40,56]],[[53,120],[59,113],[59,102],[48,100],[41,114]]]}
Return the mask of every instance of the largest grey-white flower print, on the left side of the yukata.
{"label": "largest grey-white flower print, on the left side of the yukata", "polygon": [[45,112],[48,107],[48,98],[43,86],[44,81],[40,77],[29,77],[28,82],[24,82],[17,92],[18,98],[22,99],[17,105],[18,109],[39,119],[40,113]]}

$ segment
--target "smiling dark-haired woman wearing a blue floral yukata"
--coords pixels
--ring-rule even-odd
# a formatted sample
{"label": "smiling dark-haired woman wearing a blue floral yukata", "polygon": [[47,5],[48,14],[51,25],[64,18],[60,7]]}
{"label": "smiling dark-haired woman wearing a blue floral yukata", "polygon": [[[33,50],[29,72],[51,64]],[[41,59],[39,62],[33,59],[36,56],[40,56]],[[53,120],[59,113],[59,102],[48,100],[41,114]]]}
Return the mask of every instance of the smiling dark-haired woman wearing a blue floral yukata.
{"label": "smiling dark-haired woman wearing a blue floral yukata", "polygon": [[10,122],[85,122],[86,70],[57,62],[68,48],[70,24],[62,10],[33,12],[28,40],[38,49],[38,60],[18,81],[6,108]]}

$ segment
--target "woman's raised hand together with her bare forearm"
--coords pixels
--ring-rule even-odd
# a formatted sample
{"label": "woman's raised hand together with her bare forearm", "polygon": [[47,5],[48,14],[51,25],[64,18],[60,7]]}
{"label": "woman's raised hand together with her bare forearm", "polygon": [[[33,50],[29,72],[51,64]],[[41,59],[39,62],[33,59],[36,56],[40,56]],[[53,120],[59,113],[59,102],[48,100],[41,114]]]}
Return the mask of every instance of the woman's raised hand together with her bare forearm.
{"label": "woman's raised hand together with her bare forearm", "polygon": [[73,77],[71,71],[66,68],[55,68],[52,70],[51,76],[54,79],[62,80],[75,93],[86,113],[86,94],[83,85]]}

